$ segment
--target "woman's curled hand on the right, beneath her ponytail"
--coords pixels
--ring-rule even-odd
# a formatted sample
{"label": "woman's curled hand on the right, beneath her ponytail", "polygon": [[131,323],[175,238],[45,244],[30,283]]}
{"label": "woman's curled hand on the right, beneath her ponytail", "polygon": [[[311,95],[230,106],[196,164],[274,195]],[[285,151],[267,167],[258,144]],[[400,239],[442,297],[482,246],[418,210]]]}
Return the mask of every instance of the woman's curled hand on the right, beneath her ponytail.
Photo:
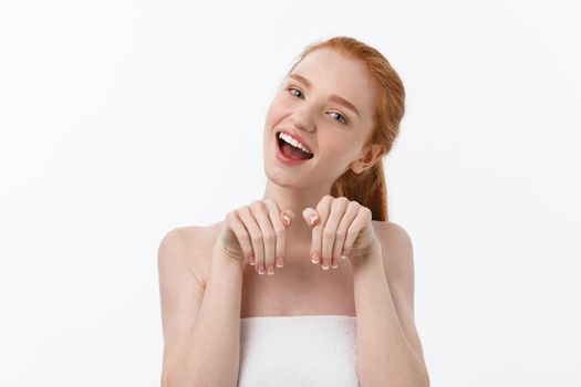
{"label": "woman's curled hand on the right, beneath her ponytail", "polygon": [[338,268],[339,261],[346,258],[359,264],[380,245],[371,210],[354,200],[325,195],[317,209],[308,207],[302,216],[312,228],[311,262],[325,270],[329,265]]}

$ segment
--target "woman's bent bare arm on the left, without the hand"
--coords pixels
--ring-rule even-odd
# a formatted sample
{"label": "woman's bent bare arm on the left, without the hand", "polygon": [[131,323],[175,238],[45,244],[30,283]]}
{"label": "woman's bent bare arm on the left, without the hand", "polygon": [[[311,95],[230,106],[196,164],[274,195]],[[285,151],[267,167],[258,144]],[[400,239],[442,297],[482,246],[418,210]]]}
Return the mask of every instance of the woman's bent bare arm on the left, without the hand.
{"label": "woman's bent bare arm on the left, without the hand", "polygon": [[[162,386],[236,386],[240,354],[241,265],[214,253],[204,290],[183,263],[185,254],[191,251],[184,243],[175,232],[164,238],[159,247],[162,313],[166,325]],[[207,251],[201,242],[194,245],[196,249],[200,253]],[[184,321],[188,308],[189,317]]]}

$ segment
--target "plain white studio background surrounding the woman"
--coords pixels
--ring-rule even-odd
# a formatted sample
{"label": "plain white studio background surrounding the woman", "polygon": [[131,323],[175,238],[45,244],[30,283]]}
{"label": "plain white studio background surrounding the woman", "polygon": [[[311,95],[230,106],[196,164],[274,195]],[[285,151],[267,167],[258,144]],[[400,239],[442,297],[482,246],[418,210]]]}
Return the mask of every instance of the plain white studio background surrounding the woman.
{"label": "plain white studio background surrounding the woman", "polygon": [[385,158],[433,386],[579,386],[575,1],[6,1],[0,385],[158,386],[157,248],[262,196],[268,104],[344,34],[404,81]]}

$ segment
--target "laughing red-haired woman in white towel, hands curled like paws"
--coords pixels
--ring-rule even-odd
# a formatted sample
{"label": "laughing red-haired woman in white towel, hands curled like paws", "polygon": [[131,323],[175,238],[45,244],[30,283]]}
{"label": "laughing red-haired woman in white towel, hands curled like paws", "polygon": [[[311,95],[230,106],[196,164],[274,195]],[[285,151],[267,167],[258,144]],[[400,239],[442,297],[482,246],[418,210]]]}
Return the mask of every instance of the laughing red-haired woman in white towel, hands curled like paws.
{"label": "laughing red-haired woman in white towel, hands curled like paws", "polygon": [[303,51],[266,117],[262,199],[159,244],[163,386],[429,386],[381,163],[404,96],[355,39]]}

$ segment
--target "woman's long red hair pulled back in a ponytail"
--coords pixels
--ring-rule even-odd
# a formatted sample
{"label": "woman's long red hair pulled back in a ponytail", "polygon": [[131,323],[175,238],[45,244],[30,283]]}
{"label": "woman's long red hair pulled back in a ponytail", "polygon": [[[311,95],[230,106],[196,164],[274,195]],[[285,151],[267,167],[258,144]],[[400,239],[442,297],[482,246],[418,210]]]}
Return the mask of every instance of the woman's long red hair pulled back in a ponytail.
{"label": "woman's long red hair pulled back in a ponytail", "polygon": [[309,44],[288,74],[292,73],[304,56],[319,49],[334,49],[365,64],[375,92],[373,127],[365,146],[380,144],[385,149],[375,164],[363,172],[355,174],[347,169],[333,182],[331,196],[355,200],[372,211],[373,220],[387,221],[387,189],[382,159],[390,153],[400,133],[400,122],[405,112],[404,85],[390,62],[377,50],[350,36],[334,36]]}

